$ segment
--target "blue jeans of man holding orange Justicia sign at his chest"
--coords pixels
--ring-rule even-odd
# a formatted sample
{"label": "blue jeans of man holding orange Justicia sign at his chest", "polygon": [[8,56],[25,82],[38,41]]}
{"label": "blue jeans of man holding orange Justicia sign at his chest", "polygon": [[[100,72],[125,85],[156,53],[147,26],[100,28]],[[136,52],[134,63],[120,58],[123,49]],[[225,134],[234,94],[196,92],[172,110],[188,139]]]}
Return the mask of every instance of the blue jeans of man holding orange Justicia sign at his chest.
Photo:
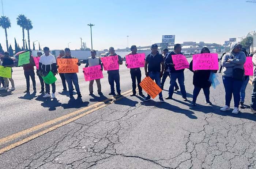
{"label": "blue jeans of man holding orange Justicia sign at his chest", "polygon": [[73,83],[75,85],[76,93],[80,94],[79,84],[78,84],[78,76],[76,73],[64,73],[65,79],[68,83],[68,91],[69,96],[73,95]]}

